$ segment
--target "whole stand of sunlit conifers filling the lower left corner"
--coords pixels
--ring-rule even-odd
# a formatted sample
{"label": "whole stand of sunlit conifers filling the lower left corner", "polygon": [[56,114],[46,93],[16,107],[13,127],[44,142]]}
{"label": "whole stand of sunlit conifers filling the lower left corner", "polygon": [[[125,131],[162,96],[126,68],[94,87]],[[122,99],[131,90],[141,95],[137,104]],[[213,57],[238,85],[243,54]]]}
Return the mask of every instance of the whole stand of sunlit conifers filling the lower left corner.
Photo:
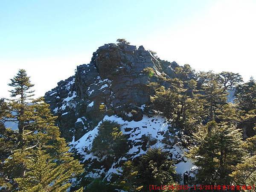
{"label": "whole stand of sunlit conifers filling the lower left corner", "polygon": [[[68,180],[81,174],[82,166],[68,153],[49,105],[43,98],[31,99],[29,94],[33,91],[29,88],[33,84],[26,71],[20,70],[11,80],[14,99],[9,101],[8,108],[2,102],[0,105],[1,182],[6,183],[6,191],[65,191],[70,186]],[[11,115],[11,111],[15,113]],[[18,132],[5,128],[5,119],[17,123]],[[39,169],[49,171],[49,175],[43,174],[44,181],[38,181],[42,176],[38,175]]]}

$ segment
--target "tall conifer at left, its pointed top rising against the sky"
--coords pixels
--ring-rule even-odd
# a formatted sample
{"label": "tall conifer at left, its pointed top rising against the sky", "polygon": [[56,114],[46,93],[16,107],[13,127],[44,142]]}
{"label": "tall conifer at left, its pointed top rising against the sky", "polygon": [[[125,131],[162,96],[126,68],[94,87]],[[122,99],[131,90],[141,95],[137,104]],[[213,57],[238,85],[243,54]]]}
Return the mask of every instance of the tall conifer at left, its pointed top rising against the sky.
{"label": "tall conifer at left, its pointed top rising against the sky", "polygon": [[[4,180],[12,186],[12,190],[17,190],[19,186],[15,180],[26,177],[30,170],[29,160],[35,156],[38,147],[58,166],[65,167],[67,171],[72,170],[72,175],[76,177],[75,175],[81,173],[82,167],[68,153],[69,148],[64,138],[60,137],[59,128],[55,126],[56,117],[52,115],[49,105],[43,98],[31,99],[31,95],[28,95],[32,93],[29,88],[33,85],[24,70],[20,70],[12,79],[12,86],[15,86],[11,91],[15,99],[9,102],[9,110],[14,111],[15,115],[9,120],[18,123],[19,131],[18,142],[3,163],[1,175]],[[14,136],[15,133],[11,133],[10,137]]]}

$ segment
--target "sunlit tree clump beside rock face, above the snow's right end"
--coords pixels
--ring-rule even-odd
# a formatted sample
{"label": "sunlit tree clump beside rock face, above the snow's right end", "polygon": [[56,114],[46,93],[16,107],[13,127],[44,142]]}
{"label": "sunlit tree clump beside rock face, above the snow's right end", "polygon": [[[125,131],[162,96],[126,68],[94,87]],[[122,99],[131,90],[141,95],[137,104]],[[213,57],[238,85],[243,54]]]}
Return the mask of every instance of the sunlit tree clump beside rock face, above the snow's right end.
{"label": "sunlit tree clump beside rock face, above the snow's right end", "polygon": [[196,96],[187,95],[187,89],[180,79],[175,78],[170,82],[169,89],[161,87],[150,97],[154,109],[188,133],[197,130],[203,116],[202,103]]}

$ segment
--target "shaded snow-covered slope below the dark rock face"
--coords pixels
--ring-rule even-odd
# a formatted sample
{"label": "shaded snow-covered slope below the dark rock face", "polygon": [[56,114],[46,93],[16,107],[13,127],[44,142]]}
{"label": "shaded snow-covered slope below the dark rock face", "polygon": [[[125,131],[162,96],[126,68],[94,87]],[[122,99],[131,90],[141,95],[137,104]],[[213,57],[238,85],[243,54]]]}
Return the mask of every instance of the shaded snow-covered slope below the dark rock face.
{"label": "shaded snow-covered slope below the dark rock face", "polygon": [[[90,152],[93,139],[98,134],[99,125],[103,120],[116,121],[122,125],[121,131],[123,134],[129,136],[128,140],[131,144],[128,152],[123,157],[113,162],[111,168],[108,170],[102,166],[97,167],[101,160]],[[89,167],[93,167],[93,169],[87,170],[87,177],[105,177],[109,180],[113,173],[117,173],[117,170],[120,170],[123,161],[133,160],[145,154],[148,148],[154,147],[163,148],[166,152],[172,154],[172,158],[177,167],[176,171],[180,174],[182,179],[183,174],[190,172],[190,169],[194,166],[190,160],[184,157],[184,149],[177,143],[179,130],[173,129],[163,116],[148,117],[143,115],[143,119],[139,122],[128,122],[116,115],[106,115],[103,120],[99,122],[98,126],[84,134],[79,140],[70,143],[71,150],[75,150],[76,153],[81,155],[83,163],[86,163]],[[148,138],[146,142],[145,137]],[[182,182],[183,180],[181,183]]]}

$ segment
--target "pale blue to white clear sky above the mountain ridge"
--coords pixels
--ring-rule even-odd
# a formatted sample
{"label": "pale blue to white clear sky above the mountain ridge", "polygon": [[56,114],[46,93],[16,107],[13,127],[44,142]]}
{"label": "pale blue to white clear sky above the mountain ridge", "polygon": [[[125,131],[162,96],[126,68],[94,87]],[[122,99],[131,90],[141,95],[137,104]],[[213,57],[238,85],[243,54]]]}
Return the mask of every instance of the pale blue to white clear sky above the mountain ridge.
{"label": "pale blue to white clear sky above the mountain ridge", "polygon": [[37,96],[126,38],[196,70],[256,78],[256,0],[0,0],[0,97],[19,68]]}

